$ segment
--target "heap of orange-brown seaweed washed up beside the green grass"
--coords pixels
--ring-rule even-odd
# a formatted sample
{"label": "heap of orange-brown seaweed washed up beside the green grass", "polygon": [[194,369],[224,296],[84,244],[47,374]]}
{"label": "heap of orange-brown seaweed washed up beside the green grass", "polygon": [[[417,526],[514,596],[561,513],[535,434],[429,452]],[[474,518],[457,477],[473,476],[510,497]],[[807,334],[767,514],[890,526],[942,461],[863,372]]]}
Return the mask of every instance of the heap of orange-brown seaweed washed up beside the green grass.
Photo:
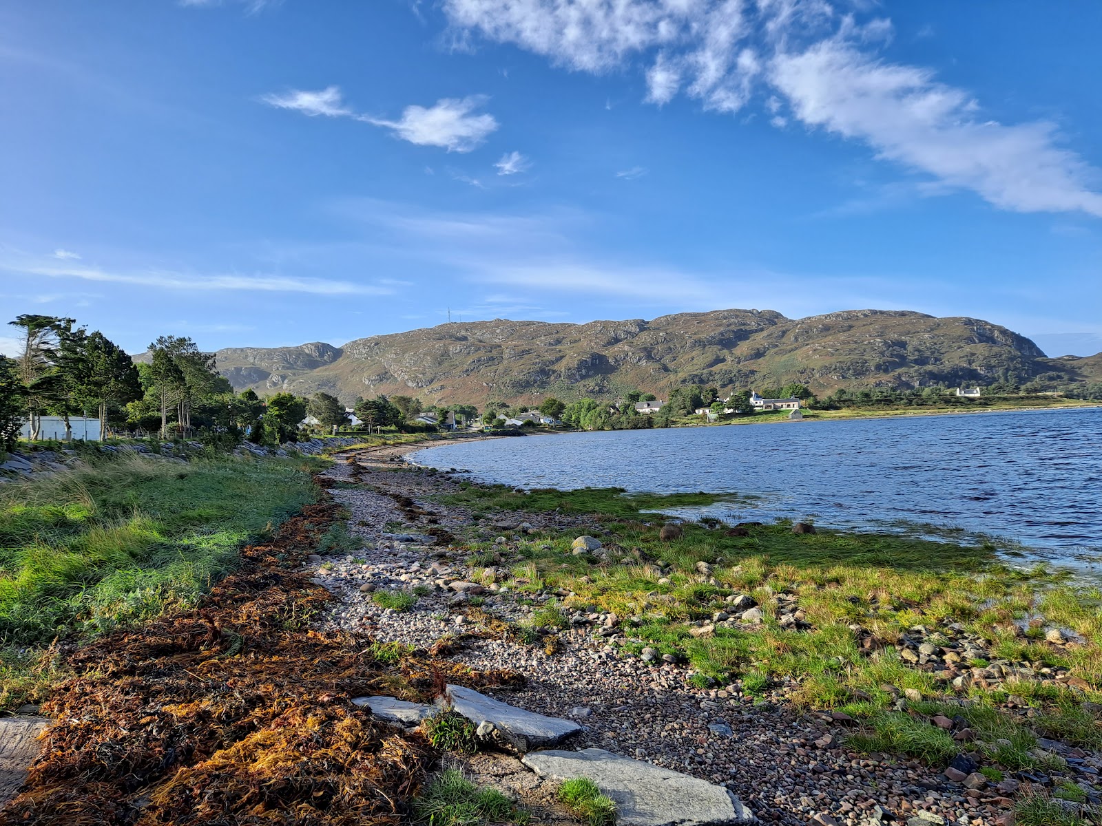
{"label": "heap of orange-brown seaweed washed up beside the green grass", "polygon": [[400,823],[435,754],[350,699],[522,677],[311,630],[331,596],[299,568],[339,518],[304,508],[198,610],[73,653],[78,676],[43,707],[54,724],[0,825]]}

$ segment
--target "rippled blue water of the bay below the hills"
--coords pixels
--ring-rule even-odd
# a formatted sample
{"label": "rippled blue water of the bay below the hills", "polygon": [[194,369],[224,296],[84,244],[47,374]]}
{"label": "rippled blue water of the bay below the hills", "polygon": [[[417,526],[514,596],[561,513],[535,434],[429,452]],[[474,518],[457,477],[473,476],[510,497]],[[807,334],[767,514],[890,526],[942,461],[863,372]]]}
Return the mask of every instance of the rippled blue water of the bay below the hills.
{"label": "rippled blue water of the bay below the hills", "polygon": [[1102,552],[1099,409],[501,438],[414,460],[518,487],[759,497],[684,515],[934,535],[955,526],[1069,562]]}

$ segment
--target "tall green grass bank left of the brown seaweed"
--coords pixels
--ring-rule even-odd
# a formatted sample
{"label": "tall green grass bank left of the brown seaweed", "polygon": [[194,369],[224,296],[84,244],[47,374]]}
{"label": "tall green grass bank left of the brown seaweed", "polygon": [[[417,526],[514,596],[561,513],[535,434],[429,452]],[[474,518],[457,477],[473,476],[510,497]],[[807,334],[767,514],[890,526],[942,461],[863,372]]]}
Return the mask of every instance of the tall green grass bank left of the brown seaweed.
{"label": "tall green grass bank left of the brown seaweed", "polygon": [[193,605],[316,498],[317,460],[100,458],[0,488],[0,643],[42,645]]}

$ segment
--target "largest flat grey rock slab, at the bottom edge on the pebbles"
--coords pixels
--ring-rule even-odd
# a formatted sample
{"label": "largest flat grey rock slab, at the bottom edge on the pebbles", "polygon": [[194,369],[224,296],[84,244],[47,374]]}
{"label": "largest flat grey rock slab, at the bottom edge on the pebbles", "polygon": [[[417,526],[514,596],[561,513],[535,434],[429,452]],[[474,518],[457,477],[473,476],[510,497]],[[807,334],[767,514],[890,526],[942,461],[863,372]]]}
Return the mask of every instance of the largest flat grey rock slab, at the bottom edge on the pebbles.
{"label": "largest flat grey rock slab, at the bottom edge on the pebbles", "polygon": [[616,802],[617,826],[728,826],[753,823],[738,798],[699,778],[604,749],[534,751],[523,763],[542,778],[588,778]]}

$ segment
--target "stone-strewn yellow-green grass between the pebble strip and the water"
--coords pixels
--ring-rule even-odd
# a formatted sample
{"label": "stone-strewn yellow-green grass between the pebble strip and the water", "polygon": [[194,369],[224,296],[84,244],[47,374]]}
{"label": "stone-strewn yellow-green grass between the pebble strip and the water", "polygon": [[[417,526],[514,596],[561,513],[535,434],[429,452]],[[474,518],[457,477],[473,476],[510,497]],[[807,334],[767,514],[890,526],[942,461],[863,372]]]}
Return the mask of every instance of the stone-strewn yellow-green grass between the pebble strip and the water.
{"label": "stone-strewn yellow-green grass between the pebble strip and the water", "polygon": [[[964,741],[932,722],[939,715],[963,716],[969,748],[1007,769],[1060,764],[1038,737],[1102,748],[1102,707],[1092,705],[1102,702],[1098,589],[1067,573],[1008,567],[983,540],[798,534],[779,522],[742,535],[689,523],[662,541],[661,518],[645,512],[662,500],[474,485],[450,498],[485,517],[598,514],[608,531],[599,552],[575,555],[570,536],[518,532],[512,558],[491,541],[473,543],[472,558],[487,566],[485,580],[508,568],[505,584],[542,605],[541,626],[615,613],[629,653],[650,649],[656,665],[669,654],[701,687],[863,721],[856,750],[943,764]],[[760,617],[741,619],[747,606]]]}

